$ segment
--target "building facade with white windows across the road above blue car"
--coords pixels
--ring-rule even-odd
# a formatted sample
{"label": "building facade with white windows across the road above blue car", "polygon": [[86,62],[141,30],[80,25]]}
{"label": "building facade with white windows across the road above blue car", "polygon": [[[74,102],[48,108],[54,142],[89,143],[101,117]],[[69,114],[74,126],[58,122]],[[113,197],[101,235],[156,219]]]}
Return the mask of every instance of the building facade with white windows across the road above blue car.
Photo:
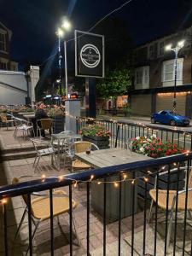
{"label": "building facade with white windows across the road above blue car", "polygon": [[[184,40],[177,55],[177,86],[175,83],[176,55],[166,51],[166,45]],[[143,44],[134,50],[134,82],[129,91],[131,113],[151,115],[162,109],[172,110],[176,91],[177,113],[192,118],[192,26]]]}

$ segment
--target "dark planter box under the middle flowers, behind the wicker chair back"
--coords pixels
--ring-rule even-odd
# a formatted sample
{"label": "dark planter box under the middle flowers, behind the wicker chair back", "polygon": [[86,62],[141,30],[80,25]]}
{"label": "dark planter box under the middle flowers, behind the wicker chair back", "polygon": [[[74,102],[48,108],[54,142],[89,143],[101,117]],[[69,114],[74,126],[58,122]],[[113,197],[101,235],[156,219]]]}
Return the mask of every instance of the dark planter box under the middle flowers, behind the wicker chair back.
{"label": "dark planter box under the middle flowers, behind the wicker chair back", "polygon": [[94,143],[99,149],[109,148],[109,137],[83,136],[83,140]]}

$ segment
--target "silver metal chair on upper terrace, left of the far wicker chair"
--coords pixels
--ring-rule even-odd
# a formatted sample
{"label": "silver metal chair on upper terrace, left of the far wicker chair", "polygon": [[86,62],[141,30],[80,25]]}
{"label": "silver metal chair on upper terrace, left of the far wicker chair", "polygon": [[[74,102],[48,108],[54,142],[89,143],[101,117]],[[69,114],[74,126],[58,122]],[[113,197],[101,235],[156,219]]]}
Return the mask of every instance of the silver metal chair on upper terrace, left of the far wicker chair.
{"label": "silver metal chair on upper terrace, left of the far wicker chair", "polygon": [[33,136],[35,134],[34,128],[31,122],[26,121],[25,119],[15,118],[14,137],[17,137],[18,131],[22,132],[22,136],[24,140],[26,139],[26,135],[31,136],[31,132],[33,133]]}

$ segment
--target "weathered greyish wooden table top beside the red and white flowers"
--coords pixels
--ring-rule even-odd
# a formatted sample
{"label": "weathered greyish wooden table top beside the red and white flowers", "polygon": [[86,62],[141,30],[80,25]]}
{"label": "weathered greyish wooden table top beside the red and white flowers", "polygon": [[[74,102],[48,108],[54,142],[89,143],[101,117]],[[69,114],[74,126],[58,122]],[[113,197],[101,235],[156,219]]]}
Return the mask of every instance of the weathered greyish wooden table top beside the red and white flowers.
{"label": "weathered greyish wooden table top beside the red and white flowers", "polygon": [[131,152],[129,149],[124,148],[108,148],[91,151],[90,154],[78,153],[75,156],[79,160],[94,166],[95,168],[102,168],[108,166],[117,166],[121,164],[127,164],[136,162],[139,160],[149,160],[150,157]]}

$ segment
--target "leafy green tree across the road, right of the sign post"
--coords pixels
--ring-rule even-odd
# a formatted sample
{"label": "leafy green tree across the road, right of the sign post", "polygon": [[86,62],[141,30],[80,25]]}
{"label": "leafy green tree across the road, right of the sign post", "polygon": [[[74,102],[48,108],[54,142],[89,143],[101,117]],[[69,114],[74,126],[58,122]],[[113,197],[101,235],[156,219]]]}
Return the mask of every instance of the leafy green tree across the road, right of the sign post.
{"label": "leafy green tree across the road, right of the sign post", "polygon": [[105,79],[96,84],[96,95],[108,99],[126,94],[131,86],[132,73],[125,67],[108,70]]}

